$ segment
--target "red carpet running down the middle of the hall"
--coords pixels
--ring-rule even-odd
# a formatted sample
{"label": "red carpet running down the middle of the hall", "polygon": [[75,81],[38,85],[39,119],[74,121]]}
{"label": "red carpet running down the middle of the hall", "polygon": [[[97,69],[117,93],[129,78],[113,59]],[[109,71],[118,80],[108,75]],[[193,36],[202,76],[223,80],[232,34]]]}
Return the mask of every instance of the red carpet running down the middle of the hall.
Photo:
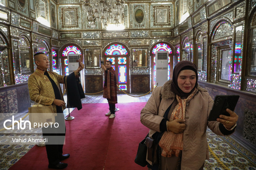
{"label": "red carpet running down the middle of the hall", "polygon": [[[63,154],[70,153],[65,170],[146,170],[134,163],[138,144],[148,134],[140,123],[144,103],[118,103],[114,119],[108,119],[107,103],[87,103],[70,113],[66,120],[66,145]],[[9,170],[46,170],[45,147],[34,146]]]}

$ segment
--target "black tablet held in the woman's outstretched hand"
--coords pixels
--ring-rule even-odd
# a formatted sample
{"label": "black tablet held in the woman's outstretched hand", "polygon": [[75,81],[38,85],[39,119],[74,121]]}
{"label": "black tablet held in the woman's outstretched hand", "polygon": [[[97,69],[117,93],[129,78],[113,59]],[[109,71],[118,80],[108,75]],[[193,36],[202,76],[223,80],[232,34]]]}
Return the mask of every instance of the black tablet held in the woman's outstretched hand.
{"label": "black tablet held in the woman's outstretched hand", "polygon": [[214,105],[210,111],[208,121],[216,121],[219,115],[230,116],[226,109],[235,110],[239,95],[216,95],[214,98]]}

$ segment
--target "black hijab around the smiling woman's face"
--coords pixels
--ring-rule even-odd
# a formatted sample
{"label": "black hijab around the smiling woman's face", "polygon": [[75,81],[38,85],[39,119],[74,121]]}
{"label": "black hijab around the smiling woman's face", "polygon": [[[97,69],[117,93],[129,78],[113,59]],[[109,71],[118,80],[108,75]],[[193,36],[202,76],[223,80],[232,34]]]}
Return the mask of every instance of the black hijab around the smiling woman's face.
{"label": "black hijab around the smiling woman's face", "polygon": [[[196,73],[196,84],[194,86],[194,88],[189,92],[189,93],[185,93],[183,92],[180,87],[178,87],[178,75],[180,74],[180,72],[182,70],[192,70]],[[176,64],[176,66],[174,67],[173,73],[172,73],[172,84],[171,84],[171,91],[174,92],[176,95],[180,96],[180,97],[185,97],[185,96],[189,96],[194,89],[197,87],[197,80],[198,80],[198,74],[197,74],[197,67],[194,63],[190,62],[190,61],[181,61],[178,62]]]}

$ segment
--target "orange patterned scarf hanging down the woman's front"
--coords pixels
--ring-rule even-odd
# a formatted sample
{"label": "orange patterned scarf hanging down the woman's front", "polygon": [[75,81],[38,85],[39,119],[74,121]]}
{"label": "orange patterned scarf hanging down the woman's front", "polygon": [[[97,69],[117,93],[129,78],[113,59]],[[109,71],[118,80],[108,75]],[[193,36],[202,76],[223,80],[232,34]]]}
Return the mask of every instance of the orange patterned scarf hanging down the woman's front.
{"label": "orange patterned scarf hanging down the woman's front", "polygon": [[[195,93],[196,89],[186,99],[181,99],[180,96],[176,95],[178,104],[172,111],[170,121],[185,118],[186,102]],[[171,131],[165,131],[161,140],[159,141],[159,146],[163,149],[161,154],[163,157],[171,157],[172,155],[178,157],[180,151],[183,150],[183,132],[175,134]]]}

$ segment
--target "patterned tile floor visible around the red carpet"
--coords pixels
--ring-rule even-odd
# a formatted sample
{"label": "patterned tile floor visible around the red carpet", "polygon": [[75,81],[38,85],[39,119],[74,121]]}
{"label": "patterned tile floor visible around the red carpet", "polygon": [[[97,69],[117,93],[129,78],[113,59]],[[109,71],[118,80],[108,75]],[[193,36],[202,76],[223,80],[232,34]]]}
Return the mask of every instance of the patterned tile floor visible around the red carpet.
{"label": "patterned tile floor visible around the red carpet", "polygon": [[[132,94],[133,96],[140,96],[143,94]],[[118,94],[119,103],[128,102],[146,102],[151,94],[142,97],[132,97],[126,94]],[[66,97],[64,96],[65,100]],[[107,100],[102,95],[86,95],[82,99],[82,103],[107,103]],[[116,105],[118,108],[118,104]],[[73,109],[70,108],[69,112]],[[108,111],[108,108],[106,108]],[[68,109],[65,109],[64,114],[68,115]],[[26,117],[24,120],[28,120]],[[16,132],[21,133],[21,130]],[[1,145],[5,137],[11,131],[0,131],[0,170],[7,170],[15,164],[23,155],[25,155],[33,145]],[[13,131],[12,131],[13,132]],[[24,130],[25,133],[41,133],[41,130]],[[228,168],[223,168],[217,160],[210,154],[210,159],[206,160],[204,170],[256,170],[256,155],[241,146],[231,137],[222,137],[215,135],[212,131],[207,129],[207,139],[209,146],[213,153],[220,159],[220,161]]]}

